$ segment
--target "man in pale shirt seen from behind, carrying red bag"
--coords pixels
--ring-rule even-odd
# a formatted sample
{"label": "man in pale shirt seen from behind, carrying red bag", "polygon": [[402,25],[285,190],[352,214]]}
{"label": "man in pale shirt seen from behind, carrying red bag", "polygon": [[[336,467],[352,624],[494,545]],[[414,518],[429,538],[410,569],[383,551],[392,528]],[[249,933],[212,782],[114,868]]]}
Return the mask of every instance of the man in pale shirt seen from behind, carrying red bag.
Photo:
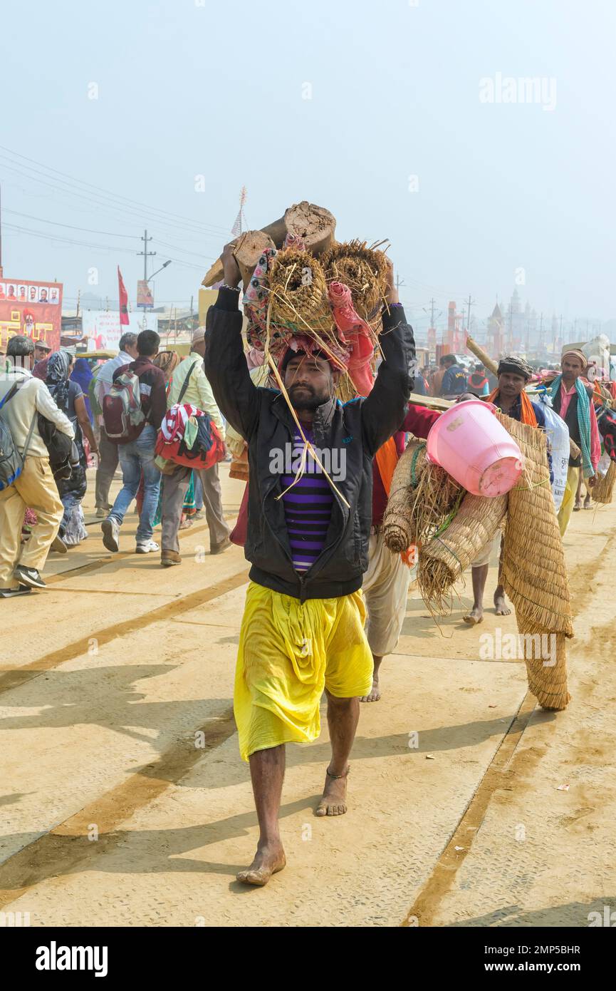
{"label": "man in pale shirt seen from behind, carrying red bag", "polygon": [[[181,399],[182,403],[192,403],[198,409],[202,409],[204,413],[208,413],[218,427],[221,437],[224,438],[225,425],[203,370],[204,353],[205,327],[198,327],[192,335],[190,354],[179,363],[173,373],[167,393],[166,407],[170,409],[178,402],[182,387],[187,382]],[[190,468],[178,465],[172,474],[162,476],[160,563],[163,568],[181,564],[177,532],[184,497],[190,483],[190,472]],[[231,540],[229,539],[229,526],[225,522],[223,512],[218,465],[213,465],[212,468],[197,474],[203,486],[205,518],[210,530],[210,553],[221,554],[231,547]]]}

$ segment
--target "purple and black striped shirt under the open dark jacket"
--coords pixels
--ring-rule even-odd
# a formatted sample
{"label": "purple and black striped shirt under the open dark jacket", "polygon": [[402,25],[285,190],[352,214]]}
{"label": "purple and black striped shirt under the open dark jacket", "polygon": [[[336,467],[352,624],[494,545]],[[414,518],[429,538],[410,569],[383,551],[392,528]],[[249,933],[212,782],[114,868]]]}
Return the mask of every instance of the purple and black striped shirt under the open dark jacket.
{"label": "purple and black striped shirt under the open dark jacket", "polygon": [[[305,427],[304,433],[310,443],[314,443],[312,431]],[[297,427],[293,434],[293,464],[299,464],[304,447]],[[284,466],[290,468],[289,465]],[[282,475],[282,491],[291,485],[295,474]],[[308,571],[325,545],[328,526],[332,515],[334,495],[323,472],[312,455],[306,455],[306,471],[299,482],[282,496],[286,529],[291,545],[291,556],[295,571]]]}

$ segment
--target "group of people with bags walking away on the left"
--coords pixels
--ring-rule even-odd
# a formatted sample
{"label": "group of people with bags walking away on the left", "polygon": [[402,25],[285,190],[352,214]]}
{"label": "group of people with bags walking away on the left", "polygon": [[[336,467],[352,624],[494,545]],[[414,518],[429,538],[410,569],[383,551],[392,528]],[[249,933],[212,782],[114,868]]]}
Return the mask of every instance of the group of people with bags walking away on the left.
{"label": "group of people with bags walking away on the left", "polygon": [[[43,342],[20,335],[10,339],[0,376],[0,418],[23,458],[23,471],[0,491],[0,597],[44,589],[41,572],[48,554],[65,554],[87,538],[82,501],[94,458],[95,511],[107,550],[119,550],[120,528],[133,502],[139,512],[135,550],[160,550],[163,567],[181,563],[178,531],[204,513],[211,553],[231,546],[218,465],[193,470],[156,463],[154,450],[167,409],[180,393],[224,436],[203,370],[204,338],[204,328],[197,329],[190,355],[180,360],[175,352],[159,352],[154,331],[126,333],[118,355],[94,369],[85,357],[75,361],[66,350],[51,352]],[[135,436],[121,443],[108,436],[104,405],[126,373],[139,384],[142,421]],[[58,432],[69,438],[69,453],[54,461],[50,440]],[[122,487],[112,504],[109,493],[118,467]],[[156,525],[161,548],[154,541]]]}

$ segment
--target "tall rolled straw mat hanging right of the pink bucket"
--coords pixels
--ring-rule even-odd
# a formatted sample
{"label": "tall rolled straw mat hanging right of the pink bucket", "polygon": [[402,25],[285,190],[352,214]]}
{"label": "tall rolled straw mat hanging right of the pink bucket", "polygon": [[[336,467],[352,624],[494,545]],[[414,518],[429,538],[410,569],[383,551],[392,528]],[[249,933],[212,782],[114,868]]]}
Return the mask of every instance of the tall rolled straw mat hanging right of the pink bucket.
{"label": "tall rolled straw mat hanging right of the pink bucket", "polygon": [[517,442],[524,474],[509,493],[501,582],[523,634],[554,634],[556,656],[547,663],[525,643],[529,689],[544,709],[563,710],[566,690],[565,637],[573,635],[565,552],[554,508],[546,436],[536,427],[496,416]]}

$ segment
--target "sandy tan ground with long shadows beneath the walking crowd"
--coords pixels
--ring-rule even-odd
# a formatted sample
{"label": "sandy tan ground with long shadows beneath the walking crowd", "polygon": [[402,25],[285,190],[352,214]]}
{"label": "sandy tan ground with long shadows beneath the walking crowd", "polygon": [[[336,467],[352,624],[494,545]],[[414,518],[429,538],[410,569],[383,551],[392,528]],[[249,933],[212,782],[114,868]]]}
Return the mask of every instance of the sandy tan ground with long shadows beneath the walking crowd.
{"label": "sandy tan ground with long shadows beneath the walking crowd", "polygon": [[[222,474],[233,516],[242,484]],[[469,580],[440,628],[412,592],[383,698],[361,708],[349,814],[313,815],[323,718],[318,741],[287,748],[288,866],[264,889],[235,881],[257,841],[232,713],[243,552],[210,557],[202,520],[163,570],[133,553],[134,514],[111,555],[91,490],[85,508],[89,537],[51,555],[48,591],[2,606],[0,911],[32,926],[585,927],[616,908],[615,506],[575,513],[565,537],[568,710],[535,708],[523,662],[482,659],[480,635],[515,622],[488,610],[465,626]],[[494,562],[489,595],[495,578]]]}

